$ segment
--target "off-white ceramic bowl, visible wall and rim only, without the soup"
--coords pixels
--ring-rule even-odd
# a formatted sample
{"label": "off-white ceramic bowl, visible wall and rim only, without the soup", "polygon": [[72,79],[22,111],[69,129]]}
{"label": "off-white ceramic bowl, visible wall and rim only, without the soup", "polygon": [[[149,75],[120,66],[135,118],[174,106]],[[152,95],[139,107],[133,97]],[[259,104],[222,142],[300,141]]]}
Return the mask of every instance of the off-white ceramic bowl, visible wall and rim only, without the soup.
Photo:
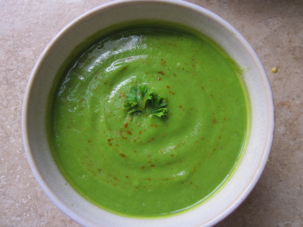
{"label": "off-white ceramic bowl, visible wall and rim only, without the soup", "polygon": [[[251,132],[246,151],[227,183],[201,206],[159,219],[133,219],[94,206],[69,186],[48,146],[46,106],[56,72],[72,51],[92,34],[138,20],[177,23],[213,39],[243,71],[251,100]],[[274,133],[274,103],[266,72],[248,42],[208,10],[176,0],[125,0],[99,6],[76,18],[52,39],[39,57],[25,93],[22,134],[29,165],[47,196],[83,226],[212,226],[233,212],[256,185],[265,168]],[[73,206],[71,206],[73,204]]]}

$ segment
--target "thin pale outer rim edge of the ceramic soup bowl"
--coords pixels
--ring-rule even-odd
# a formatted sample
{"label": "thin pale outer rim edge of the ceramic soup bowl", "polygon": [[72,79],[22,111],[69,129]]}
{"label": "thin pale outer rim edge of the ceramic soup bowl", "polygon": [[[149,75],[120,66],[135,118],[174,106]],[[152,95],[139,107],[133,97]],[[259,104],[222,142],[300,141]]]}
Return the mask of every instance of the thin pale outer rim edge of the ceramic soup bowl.
{"label": "thin pale outer rim edge of the ceramic soup bowl", "polygon": [[51,51],[53,45],[61,37],[64,37],[65,33],[68,32],[68,30],[70,30],[71,28],[73,28],[74,26],[76,26],[77,24],[79,24],[80,22],[85,20],[86,18],[88,18],[92,15],[95,15],[97,12],[99,12],[101,10],[106,10],[106,9],[116,7],[119,5],[133,4],[133,3],[148,3],[148,2],[177,5],[179,7],[185,7],[185,8],[191,9],[193,11],[198,11],[200,13],[208,15],[209,17],[211,17],[212,20],[215,20],[218,24],[223,26],[228,31],[235,33],[237,35],[238,40],[241,42],[241,44],[243,46],[245,46],[246,50],[249,52],[250,56],[255,60],[255,62],[258,63],[258,67],[259,67],[258,70],[262,74],[262,79],[264,82],[263,85],[266,87],[266,94],[267,94],[267,101],[268,101],[268,108],[269,108],[268,114],[270,115],[269,118],[271,119],[271,122],[269,122],[268,129],[267,129],[268,138],[267,138],[266,148],[263,153],[263,157],[261,159],[261,163],[259,164],[257,172],[255,173],[255,176],[251,180],[250,185],[247,187],[245,192],[241,196],[239,196],[239,199],[237,201],[235,201],[235,203],[232,204],[229,209],[222,212],[221,215],[219,215],[216,219],[213,219],[210,222],[203,225],[203,226],[212,226],[212,225],[217,224],[221,220],[225,219],[235,209],[237,209],[238,206],[240,206],[240,204],[247,198],[247,196],[250,194],[250,192],[253,190],[253,188],[257,184],[258,180],[260,179],[261,174],[263,173],[263,171],[265,169],[265,165],[267,163],[267,160],[268,160],[268,157],[270,154],[270,150],[271,150],[271,146],[273,143],[273,136],[274,136],[274,130],[275,130],[275,106],[274,106],[274,99],[273,99],[273,94],[272,94],[269,79],[267,77],[267,74],[265,72],[265,69],[264,69],[260,59],[258,58],[258,56],[255,53],[255,51],[253,50],[253,48],[245,40],[245,38],[242,35],[240,35],[240,33],[238,33],[238,31],[235,28],[233,28],[228,22],[226,22],[225,20],[220,18],[218,15],[215,15],[214,13],[208,11],[207,9],[202,8],[201,6],[195,5],[190,2],[185,2],[182,0],[115,0],[115,1],[102,4],[100,6],[97,6],[93,9],[89,10],[88,12],[78,16],[77,18],[72,20],[70,23],[68,23],[68,25],[66,25],[64,28],[62,28],[62,30],[59,31],[58,34],[55,35],[54,38],[48,43],[48,45],[42,51],[42,54],[39,56],[32,72],[31,72],[31,75],[29,77],[28,84],[27,84],[27,87],[25,90],[25,96],[24,96],[23,107],[22,107],[22,136],[23,136],[23,143],[24,143],[24,147],[25,147],[25,153],[26,153],[26,156],[28,159],[29,166],[30,166],[37,182],[39,183],[39,185],[41,186],[41,188],[43,189],[45,194],[52,200],[52,202],[54,202],[55,205],[60,210],[62,210],[65,214],[67,214],[69,217],[71,217],[73,220],[75,220],[79,224],[83,225],[84,223],[88,223],[89,220],[86,220],[83,217],[79,218],[78,215],[75,214],[68,206],[66,206],[66,204],[61,202],[60,199],[58,199],[56,197],[56,195],[53,195],[52,191],[48,187],[47,182],[45,182],[45,179],[41,175],[41,173],[34,161],[34,157],[32,155],[31,149],[30,149],[31,146],[29,145],[29,137],[28,137],[28,126],[27,126],[28,100],[32,93],[32,89],[34,86],[33,83],[37,77],[38,68],[41,66],[43,61],[45,61],[45,58],[47,58],[47,54],[49,51]]}

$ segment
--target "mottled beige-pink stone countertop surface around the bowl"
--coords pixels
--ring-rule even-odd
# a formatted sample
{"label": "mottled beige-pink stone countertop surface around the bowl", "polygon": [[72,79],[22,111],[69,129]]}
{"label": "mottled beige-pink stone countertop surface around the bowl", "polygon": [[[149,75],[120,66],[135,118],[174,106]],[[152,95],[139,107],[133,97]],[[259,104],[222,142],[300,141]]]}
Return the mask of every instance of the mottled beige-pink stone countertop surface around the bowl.
{"label": "mottled beige-pink stone countertop surface around the bowl", "polygon": [[[0,1],[0,226],[80,226],[38,185],[22,143],[27,81],[51,39],[78,15],[109,1]],[[216,227],[303,226],[303,1],[189,0],[235,27],[271,82],[276,128],[269,161],[248,198]],[[272,67],[278,67],[272,73]]]}

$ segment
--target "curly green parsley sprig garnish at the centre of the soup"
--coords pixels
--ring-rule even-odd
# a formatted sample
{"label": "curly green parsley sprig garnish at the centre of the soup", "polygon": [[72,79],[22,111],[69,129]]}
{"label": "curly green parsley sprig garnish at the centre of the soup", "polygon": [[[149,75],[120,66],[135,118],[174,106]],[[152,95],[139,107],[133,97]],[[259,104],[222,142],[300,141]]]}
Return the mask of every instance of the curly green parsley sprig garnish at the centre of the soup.
{"label": "curly green parsley sprig garnish at the centre of the soup", "polygon": [[145,85],[132,87],[125,100],[124,106],[128,113],[141,111],[146,115],[161,117],[167,115],[166,102],[163,97],[156,95],[152,89]]}

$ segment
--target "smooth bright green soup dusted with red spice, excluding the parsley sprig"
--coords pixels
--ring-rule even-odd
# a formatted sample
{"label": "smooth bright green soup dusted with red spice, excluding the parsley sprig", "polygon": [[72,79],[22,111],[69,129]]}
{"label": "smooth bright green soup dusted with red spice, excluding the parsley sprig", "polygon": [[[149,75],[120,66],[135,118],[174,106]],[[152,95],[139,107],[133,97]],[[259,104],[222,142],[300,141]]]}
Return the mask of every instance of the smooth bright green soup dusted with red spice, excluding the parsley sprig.
{"label": "smooth bright green soup dusted with red spice, excluding the parsley sprig", "polygon": [[[68,182],[105,210],[152,217],[188,209],[234,168],[248,127],[237,65],[202,36],[168,28],[111,33],[60,72],[54,158]],[[167,116],[124,108],[132,87],[165,98]]]}

